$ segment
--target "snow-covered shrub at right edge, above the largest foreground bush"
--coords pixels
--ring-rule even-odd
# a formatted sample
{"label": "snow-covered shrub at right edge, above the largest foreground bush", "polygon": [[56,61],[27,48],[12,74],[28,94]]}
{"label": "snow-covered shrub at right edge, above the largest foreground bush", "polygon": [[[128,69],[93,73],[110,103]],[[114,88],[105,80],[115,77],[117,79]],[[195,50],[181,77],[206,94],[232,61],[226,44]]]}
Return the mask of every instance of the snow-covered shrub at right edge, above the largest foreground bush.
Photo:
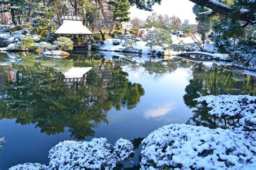
{"label": "snow-covered shrub at right edge, above the largest foreground bush", "polygon": [[[208,114],[223,119],[227,128],[243,131],[256,130],[256,97],[248,95],[202,96],[194,99],[198,109],[208,108]],[[254,117],[254,118],[253,118]],[[219,119],[219,121],[220,121]],[[229,124],[230,122],[230,124]],[[223,127],[221,127],[223,128]]]}

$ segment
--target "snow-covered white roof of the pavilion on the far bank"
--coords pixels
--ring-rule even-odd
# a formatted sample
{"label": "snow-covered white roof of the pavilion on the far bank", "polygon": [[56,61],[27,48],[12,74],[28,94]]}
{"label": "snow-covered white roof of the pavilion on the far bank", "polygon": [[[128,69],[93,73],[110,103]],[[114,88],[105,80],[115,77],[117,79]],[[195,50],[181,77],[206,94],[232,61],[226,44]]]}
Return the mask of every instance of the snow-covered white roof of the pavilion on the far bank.
{"label": "snow-covered white roof of the pavilion on the far bank", "polygon": [[92,34],[92,32],[83,25],[80,17],[64,16],[62,19],[63,19],[62,25],[55,32],[56,34],[76,34],[76,35]]}

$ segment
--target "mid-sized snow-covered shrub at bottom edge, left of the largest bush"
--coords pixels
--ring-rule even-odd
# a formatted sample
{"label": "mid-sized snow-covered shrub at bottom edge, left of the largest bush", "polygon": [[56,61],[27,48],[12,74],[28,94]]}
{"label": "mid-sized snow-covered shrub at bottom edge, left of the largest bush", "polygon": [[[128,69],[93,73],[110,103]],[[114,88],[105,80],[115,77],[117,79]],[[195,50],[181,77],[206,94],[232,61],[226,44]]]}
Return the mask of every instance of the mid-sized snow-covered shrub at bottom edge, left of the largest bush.
{"label": "mid-sized snow-covered shrub at bottom edge, left of the largest bush", "polygon": [[49,167],[57,169],[112,169],[129,157],[133,145],[129,140],[119,139],[113,152],[106,138],[91,141],[63,141],[49,151]]}

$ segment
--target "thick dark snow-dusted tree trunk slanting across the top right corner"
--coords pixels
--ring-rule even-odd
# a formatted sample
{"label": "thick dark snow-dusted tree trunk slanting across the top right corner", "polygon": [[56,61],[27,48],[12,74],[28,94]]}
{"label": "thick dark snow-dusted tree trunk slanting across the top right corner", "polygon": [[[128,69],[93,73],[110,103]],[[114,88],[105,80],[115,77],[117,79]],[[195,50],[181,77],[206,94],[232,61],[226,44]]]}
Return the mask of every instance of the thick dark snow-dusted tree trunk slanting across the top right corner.
{"label": "thick dark snow-dusted tree trunk slanting across the top right corner", "polygon": [[[214,1],[214,0],[190,0],[193,3],[196,3],[201,6],[205,6],[206,8],[212,9],[218,13],[221,13],[225,16],[230,16],[232,14],[233,8],[226,4]],[[238,19],[243,20],[248,23],[255,23],[255,16],[251,15],[249,12],[239,12]]]}

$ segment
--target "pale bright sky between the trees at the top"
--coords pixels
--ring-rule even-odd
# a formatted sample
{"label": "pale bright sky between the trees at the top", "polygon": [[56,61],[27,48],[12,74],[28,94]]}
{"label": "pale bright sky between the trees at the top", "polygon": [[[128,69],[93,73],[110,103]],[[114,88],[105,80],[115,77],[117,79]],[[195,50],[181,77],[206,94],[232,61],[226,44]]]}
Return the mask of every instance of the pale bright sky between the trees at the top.
{"label": "pale bright sky between the trees at the top", "polygon": [[[181,19],[181,22],[184,22],[185,19],[190,20],[190,24],[196,24],[195,15],[192,11],[194,3],[188,0],[162,0],[161,5],[154,5],[153,12],[167,14],[169,16],[176,15]],[[132,18],[140,18],[146,19],[147,16],[150,16],[152,12],[143,11],[137,9],[133,6],[130,9],[130,17]]]}

